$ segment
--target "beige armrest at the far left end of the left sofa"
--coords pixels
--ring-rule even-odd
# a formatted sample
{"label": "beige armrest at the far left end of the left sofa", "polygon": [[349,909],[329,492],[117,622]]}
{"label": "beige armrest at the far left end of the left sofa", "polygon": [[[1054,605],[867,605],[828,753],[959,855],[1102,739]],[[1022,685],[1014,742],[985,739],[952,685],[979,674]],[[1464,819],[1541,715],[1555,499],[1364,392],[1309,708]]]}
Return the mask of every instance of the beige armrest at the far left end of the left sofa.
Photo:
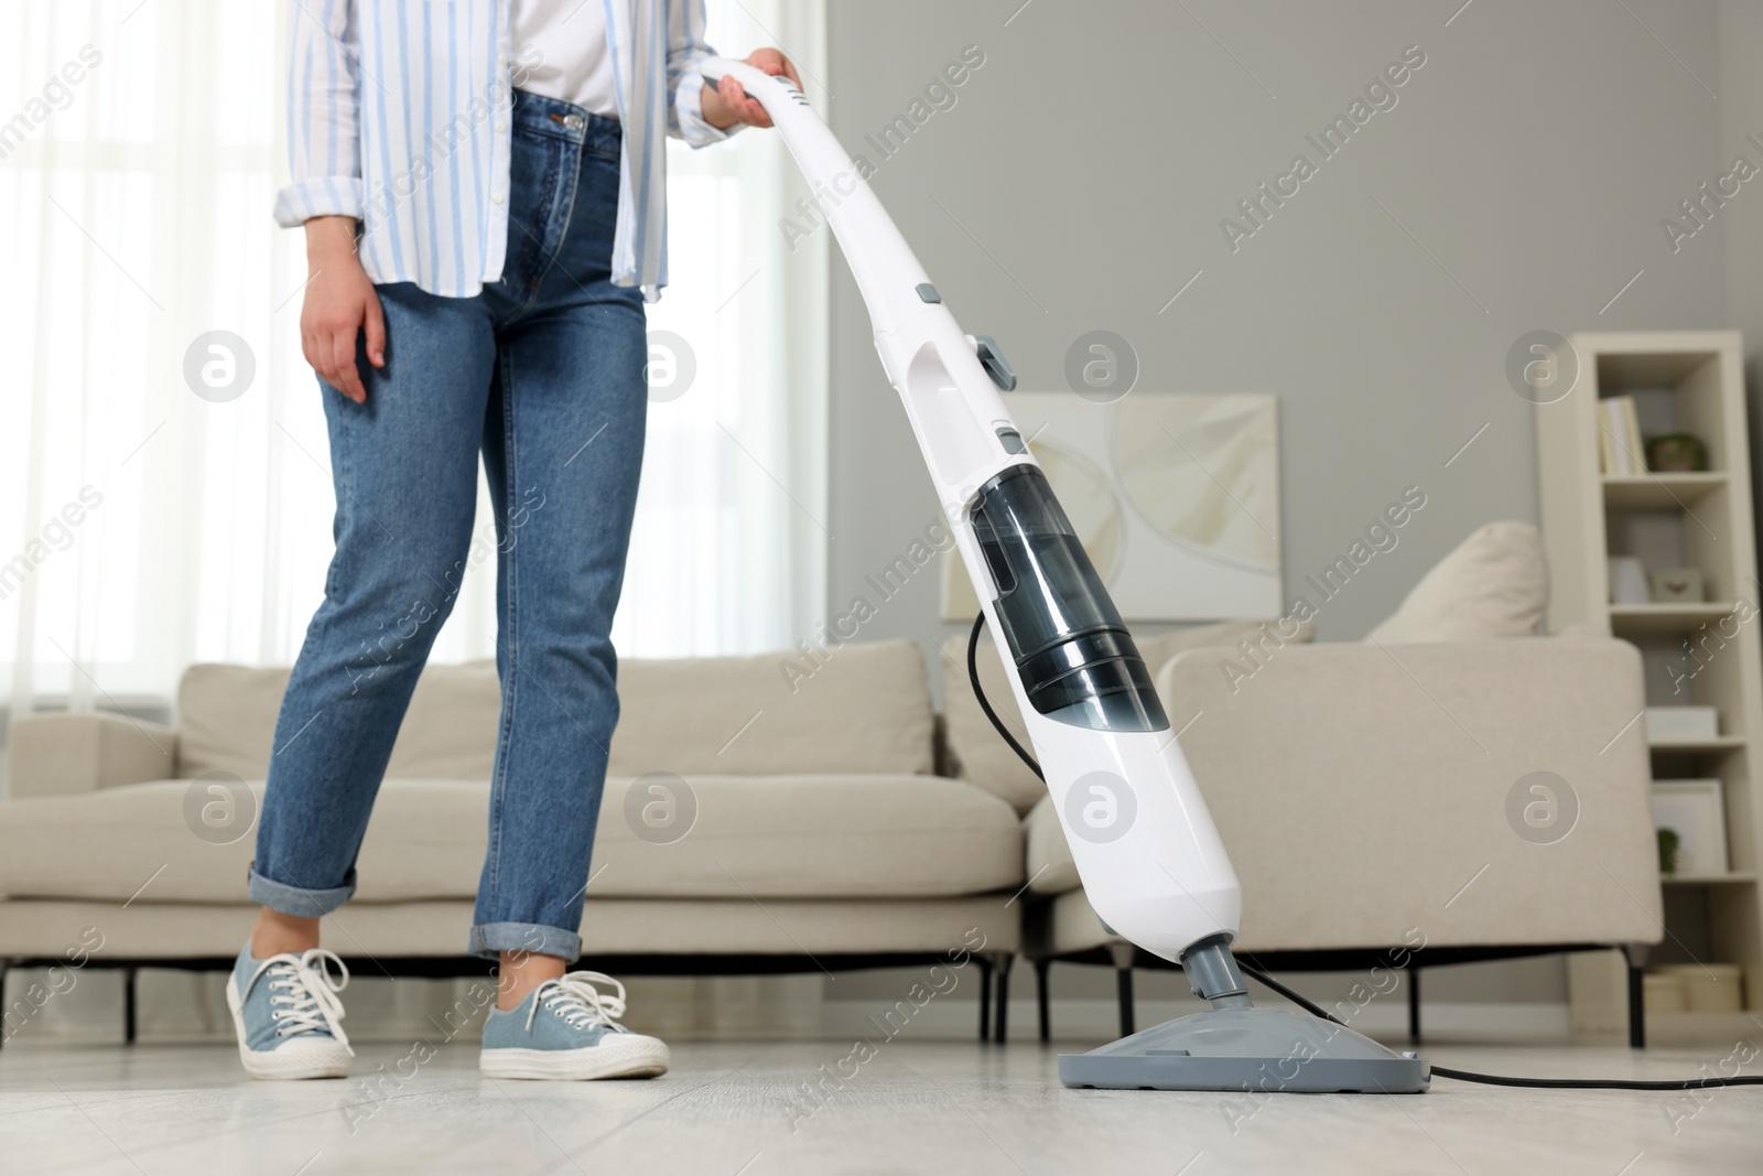
{"label": "beige armrest at the far left end of the left sofa", "polygon": [[176,769],[178,735],[159,723],[79,711],[28,714],[12,725],[14,800],[169,779]]}

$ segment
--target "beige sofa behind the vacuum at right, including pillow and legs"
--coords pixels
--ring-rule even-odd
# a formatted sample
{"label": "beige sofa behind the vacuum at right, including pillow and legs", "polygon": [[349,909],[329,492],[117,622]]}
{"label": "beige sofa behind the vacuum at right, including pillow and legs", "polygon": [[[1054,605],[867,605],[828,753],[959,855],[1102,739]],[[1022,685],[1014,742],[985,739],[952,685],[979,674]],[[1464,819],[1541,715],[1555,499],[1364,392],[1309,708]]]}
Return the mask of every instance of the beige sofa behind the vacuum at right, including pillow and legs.
{"label": "beige sofa behind the vacuum at right, including pillow and legs", "polygon": [[[1640,963],[1664,929],[1641,661],[1611,638],[1529,635],[1546,580],[1536,531],[1493,524],[1375,640],[1312,645],[1305,626],[1268,624],[1141,642],[1243,882],[1243,952],[1282,968],[1407,968],[1417,1038],[1423,966],[1624,949],[1640,1044]],[[989,642],[980,665],[1021,735]],[[1112,964],[1130,1033],[1132,968],[1167,964],[1102,926],[1045,788],[971,689],[950,688],[945,707],[963,776],[1024,811],[1024,954],[1042,993],[1053,961]],[[1553,811],[1534,785],[1558,793]],[[1530,804],[1555,823],[1527,825]],[[1045,1019],[1042,1003],[1044,1035]]]}

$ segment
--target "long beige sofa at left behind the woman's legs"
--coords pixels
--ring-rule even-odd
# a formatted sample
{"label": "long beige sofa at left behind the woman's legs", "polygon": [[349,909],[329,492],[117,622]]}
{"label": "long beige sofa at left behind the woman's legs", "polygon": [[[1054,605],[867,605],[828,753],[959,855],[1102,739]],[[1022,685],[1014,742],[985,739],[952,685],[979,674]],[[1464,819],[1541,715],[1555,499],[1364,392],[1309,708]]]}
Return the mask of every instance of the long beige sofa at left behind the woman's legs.
{"label": "long beige sofa at left behind the woman's legs", "polygon": [[[234,956],[286,679],[192,666],[176,730],[21,719],[0,802],[0,963],[60,957],[86,927],[100,964]],[[989,973],[1017,952],[1023,827],[996,795],[933,772],[917,644],[846,645],[806,679],[777,656],[626,661],[619,686],[582,917],[594,966],[815,971],[978,945]],[[356,899],[324,926],[368,973],[487,968],[465,934],[497,705],[490,663],[430,666],[416,689]]]}

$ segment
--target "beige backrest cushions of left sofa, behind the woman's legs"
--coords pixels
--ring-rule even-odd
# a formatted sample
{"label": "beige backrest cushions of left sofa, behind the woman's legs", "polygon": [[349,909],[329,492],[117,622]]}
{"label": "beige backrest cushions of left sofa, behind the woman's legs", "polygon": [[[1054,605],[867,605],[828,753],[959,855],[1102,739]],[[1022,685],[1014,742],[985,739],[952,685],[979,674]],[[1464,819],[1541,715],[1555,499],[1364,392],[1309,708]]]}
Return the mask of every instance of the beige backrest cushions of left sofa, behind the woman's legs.
{"label": "beige backrest cushions of left sofa, behind the woman's legs", "polygon": [[[268,770],[286,668],[194,665],[178,686],[178,776]],[[850,644],[816,658],[619,663],[614,774],[929,772],[931,691],[917,642]],[[388,779],[487,781],[501,686],[494,661],[423,670]]]}

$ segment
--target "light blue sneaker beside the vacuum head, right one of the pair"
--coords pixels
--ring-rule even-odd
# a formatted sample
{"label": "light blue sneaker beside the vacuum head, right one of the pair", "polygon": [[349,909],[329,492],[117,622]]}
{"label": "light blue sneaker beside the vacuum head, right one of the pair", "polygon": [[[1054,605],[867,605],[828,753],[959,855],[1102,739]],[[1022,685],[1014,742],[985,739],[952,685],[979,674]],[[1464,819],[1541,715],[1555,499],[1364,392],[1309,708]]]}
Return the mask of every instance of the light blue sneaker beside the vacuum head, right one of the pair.
{"label": "light blue sneaker beside the vacuum head, right one of the pair", "polygon": [[[601,993],[596,986],[617,989]],[[624,986],[601,971],[545,980],[513,1009],[492,1009],[478,1065],[490,1077],[591,1079],[666,1074],[666,1044],[631,1033]]]}

